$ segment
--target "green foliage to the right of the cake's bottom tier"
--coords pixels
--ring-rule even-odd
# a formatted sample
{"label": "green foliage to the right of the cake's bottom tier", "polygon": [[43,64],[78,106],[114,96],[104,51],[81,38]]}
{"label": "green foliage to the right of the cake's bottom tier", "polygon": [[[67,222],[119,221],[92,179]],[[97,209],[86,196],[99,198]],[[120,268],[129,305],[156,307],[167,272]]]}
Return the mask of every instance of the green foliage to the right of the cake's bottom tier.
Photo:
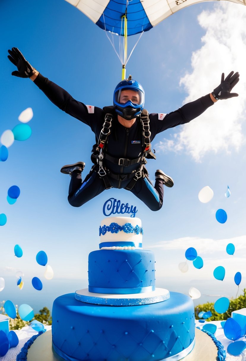
{"label": "green foliage to the right of the cake's bottom tier", "polygon": [[225,313],[217,313],[214,309],[214,303],[207,302],[203,305],[197,305],[195,307],[195,317],[199,319],[198,314],[202,311],[211,311],[212,316],[207,319],[207,321],[222,321],[231,317],[232,311],[240,310],[241,308],[246,308],[246,289],[244,288],[243,294],[238,296],[236,299],[230,299],[230,305]]}

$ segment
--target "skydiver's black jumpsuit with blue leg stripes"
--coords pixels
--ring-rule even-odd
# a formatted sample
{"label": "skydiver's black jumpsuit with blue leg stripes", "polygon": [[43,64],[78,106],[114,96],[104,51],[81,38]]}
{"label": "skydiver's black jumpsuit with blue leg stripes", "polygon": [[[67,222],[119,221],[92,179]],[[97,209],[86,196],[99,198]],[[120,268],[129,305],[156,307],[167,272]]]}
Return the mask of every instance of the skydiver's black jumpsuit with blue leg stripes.
{"label": "skydiver's black jumpsuit with blue leg stripes", "polygon": [[[104,112],[101,108],[88,106],[73,97],[57,84],[51,82],[39,74],[34,83],[45,93],[45,95],[61,110],[79,119],[91,127],[98,140],[104,123]],[[190,122],[202,114],[209,106],[213,105],[210,95],[203,96],[191,103],[183,105],[172,113],[161,116],[157,113],[149,114],[150,119],[150,141],[156,134]],[[139,121],[125,128],[118,122],[117,114],[114,114],[111,134],[108,137],[106,153],[115,158],[135,159],[142,154],[142,125]],[[122,180],[109,177],[111,186],[114,188],[125,188],[131,179],[124,180],[124,175],[132,173],[139,168],[140,163],[130,166],[120,166],[109,160],[104,160],[105,167],[114,174],[120,174]],[[73,171],[69,186],[69,203],[79,207],[91,200],[93,197],[105,190],[104,181],[97,172],[92,172],[91,177],[82,182],[81,172]],[[139,178],[131,192],[143,201],[151,210],[159,210],[163,204],[163,182],[161,179],[155,181],[155,186],[148,178]]]}

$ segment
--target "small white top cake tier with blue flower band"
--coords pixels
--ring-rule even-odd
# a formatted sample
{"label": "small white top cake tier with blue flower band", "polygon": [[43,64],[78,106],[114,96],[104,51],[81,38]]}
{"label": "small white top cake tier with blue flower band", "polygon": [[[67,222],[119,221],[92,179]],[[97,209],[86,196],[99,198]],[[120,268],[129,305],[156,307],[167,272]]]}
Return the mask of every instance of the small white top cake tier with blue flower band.
{"label": "small white top cake tier with blue flower band", "polygon": [[[100,242],[134,243],[134,247],[141,248],[142,245],[142,222],[140,218],[133,217],[107,217],[101,221]],[[133,246],[133,244],[132,244]],[[101,248],[101,247],[100,247]]]}

